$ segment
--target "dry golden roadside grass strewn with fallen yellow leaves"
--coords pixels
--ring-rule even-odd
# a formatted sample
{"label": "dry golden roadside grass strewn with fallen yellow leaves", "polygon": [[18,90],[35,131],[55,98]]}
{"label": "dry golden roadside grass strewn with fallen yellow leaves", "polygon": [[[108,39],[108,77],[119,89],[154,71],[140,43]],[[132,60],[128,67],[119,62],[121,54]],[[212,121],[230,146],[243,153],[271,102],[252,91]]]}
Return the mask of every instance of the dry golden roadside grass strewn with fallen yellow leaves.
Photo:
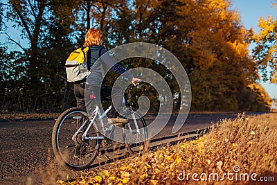
{"label": "dry golden roadside grass strewn with fallen yellow leaves", "polygon": [[[194,141],[146,152],[111,164],[107,169],[81,173],[75,182],[58,184],[264,184],[251,180],[274,177],[277,182],[277,114],[263,114],[213,125]],[[239,166],[234,168],[234,166]],[[236,173],[234,172],[236,170]],[[185,172],[185,179],[181,181]],[[224,173],[233,173],[223,176]],[[188,175],[190,173],[190,175]],[[199,181],[193,180],[199,179]],[[219,175],[219,180],[217,176]],[[242,177],[241,174],[247,173]],[[211,175],[211,181],[208,180]],[[207,180],[205,177],[207,176]],[[213,179],[215,177],[215,179]],[[220,179],[224,180],[220,181]],[[233,177],[233,180],[229,180]],[[242,180],[240,180],[240,178]],[[202,181],[201,179],[204,179]],[[270,184],[270,183],[269,183]],[[274,184],[274,182],[271,182]]]}

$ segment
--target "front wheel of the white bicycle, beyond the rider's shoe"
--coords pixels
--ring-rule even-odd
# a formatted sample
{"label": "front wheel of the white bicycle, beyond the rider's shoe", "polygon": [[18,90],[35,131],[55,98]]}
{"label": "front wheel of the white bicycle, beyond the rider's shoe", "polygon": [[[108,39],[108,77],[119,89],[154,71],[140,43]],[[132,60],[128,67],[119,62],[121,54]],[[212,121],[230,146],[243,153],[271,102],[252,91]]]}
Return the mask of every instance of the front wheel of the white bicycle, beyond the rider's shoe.
{"label": "front wheel of the white bicycle, beyond the rider's shoe", "polygon": [[129,123],[124,125],[125,129],[123,131],[125,143],[130,153],[140,154],[145,150],[145,144],[148,139],[145,119],[141,114],[134,112],[134,118],[129,118],[128,120]]}

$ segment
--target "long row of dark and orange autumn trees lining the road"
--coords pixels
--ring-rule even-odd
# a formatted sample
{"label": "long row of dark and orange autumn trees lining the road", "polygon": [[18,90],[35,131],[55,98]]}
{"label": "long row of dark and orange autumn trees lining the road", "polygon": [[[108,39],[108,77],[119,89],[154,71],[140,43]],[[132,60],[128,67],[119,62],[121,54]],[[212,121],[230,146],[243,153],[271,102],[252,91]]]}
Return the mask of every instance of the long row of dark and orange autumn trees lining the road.
{"label": "long row of dark and orange autumn trees lining the road", "polygon": [[[73,106],[75,98],[72,85],[66,83],[64,61],[73,49],[82,46],[91,27],[103,30],[106,49],[130,42],[148,42],[163,46],[177,56],[190,79],[193,110],[256,109],[252,104],[242,103],[243,97],[255,94],[253,91],[257,89],[249,87],[258,79],[256,63],[247,49],[253,30],[242,26],[240,15],[231,10],[229,0],[8,2],[0,3],[0,9],[6,8],[0,12],[2,33],[5,24],[1,23],[10,21],[21,30],[21,41],[28,42],[27,46],[22,45],[8,35],[20,51],[10,51],[5,46],[0,50],[3,61],[12,67],[10,71],[0,71],[7,76],[3,79],[6,86],[1,86],[5,89],[3,93],[12,91],[12,98],[6,99],[9,109],[46,112]],[[260,49],[265,48],[260,43]],[[168,82],[175,110],[178,109],[179,86],[163,64],[145,58],[127,59],[121,64],[126,69],[146,67],[157,71]],[[113,77],[108,78],[111,84]],[[13,91],[7,84],[18,88]],[[151,109],[159,109],[160,97],[151,85],[132,91],[148,95]],[[257,103],[255,97],[258,98],[253,95],[251,103]]]}

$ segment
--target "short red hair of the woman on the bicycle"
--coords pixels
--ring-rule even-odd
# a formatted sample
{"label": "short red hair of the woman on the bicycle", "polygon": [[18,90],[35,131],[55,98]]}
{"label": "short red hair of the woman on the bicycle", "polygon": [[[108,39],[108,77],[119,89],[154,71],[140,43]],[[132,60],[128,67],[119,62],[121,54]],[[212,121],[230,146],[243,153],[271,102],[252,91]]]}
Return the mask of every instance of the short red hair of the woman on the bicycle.
{"label": "short red hair of the woman on the bicycle", "polygon": [[86,37],[84,38],[84,47],[92,45],[102,45],[103,33],[101,30],[96,28],[89,28]]}

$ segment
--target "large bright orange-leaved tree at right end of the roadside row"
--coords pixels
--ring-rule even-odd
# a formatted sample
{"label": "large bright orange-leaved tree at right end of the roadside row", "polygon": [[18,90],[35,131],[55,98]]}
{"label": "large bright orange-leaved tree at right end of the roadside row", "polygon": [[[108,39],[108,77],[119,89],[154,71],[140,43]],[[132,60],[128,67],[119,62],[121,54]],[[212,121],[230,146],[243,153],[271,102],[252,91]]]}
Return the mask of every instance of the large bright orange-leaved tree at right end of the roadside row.
{"label": "large bright orange-leaved tree at right end of the roadside row", "polygon": [[[177,28],[186,49],[184,67],[193,90],[192,109],[236,110],[238,94],[256,80],[246,30],[229,1],[185,0]],[[177,35],[176,35],[177,36]],[[180,37],[180,36],[179,36]]]}

